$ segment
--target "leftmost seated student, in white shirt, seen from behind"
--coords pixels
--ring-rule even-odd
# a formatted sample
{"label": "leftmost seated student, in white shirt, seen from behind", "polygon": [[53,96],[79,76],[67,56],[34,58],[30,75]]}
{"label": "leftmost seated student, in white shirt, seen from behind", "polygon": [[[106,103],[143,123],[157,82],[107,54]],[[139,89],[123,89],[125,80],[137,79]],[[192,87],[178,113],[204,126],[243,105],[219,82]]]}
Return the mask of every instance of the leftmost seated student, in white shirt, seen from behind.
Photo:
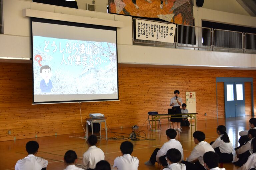
{"label": "leftmost seated student, in white shirt, seen from behind", "polygon": [[15,170],[46,170],[48,161],[35,156],[38,152],[39,144],[37,141],[29,141],[26,144],[28,156],[18,160]]}

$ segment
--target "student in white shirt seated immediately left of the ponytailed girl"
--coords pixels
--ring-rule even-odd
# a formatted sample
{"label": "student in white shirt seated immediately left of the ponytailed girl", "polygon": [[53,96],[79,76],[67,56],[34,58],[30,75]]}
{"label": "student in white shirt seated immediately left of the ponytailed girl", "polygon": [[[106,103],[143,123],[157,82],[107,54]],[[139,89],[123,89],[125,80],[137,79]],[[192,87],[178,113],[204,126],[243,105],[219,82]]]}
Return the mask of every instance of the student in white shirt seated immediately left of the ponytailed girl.
{"label": "student in white shirt seated immediately left of the ponytailed girl", "polygon": [[203,155],[205,152],[213,151],[212,146],[204,141],[205,134],[202,131],[195,131],[193,133],[194,142],[197,144],[187,158],[187,161],[181,161],[186,165],[187,170],[205,170]]}

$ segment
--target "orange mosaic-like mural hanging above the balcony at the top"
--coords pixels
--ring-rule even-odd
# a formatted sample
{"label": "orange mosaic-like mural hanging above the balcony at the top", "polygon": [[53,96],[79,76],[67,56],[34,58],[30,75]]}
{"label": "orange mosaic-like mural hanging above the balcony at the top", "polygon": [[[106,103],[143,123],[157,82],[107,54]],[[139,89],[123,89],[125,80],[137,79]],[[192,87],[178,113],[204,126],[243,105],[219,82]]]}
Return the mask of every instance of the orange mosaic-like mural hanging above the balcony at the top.
{"label": "orange mosaic-like mural hanging above the balcony at the top", "polygon": [[108,0],[109,12],[193,25],[192,0]]}

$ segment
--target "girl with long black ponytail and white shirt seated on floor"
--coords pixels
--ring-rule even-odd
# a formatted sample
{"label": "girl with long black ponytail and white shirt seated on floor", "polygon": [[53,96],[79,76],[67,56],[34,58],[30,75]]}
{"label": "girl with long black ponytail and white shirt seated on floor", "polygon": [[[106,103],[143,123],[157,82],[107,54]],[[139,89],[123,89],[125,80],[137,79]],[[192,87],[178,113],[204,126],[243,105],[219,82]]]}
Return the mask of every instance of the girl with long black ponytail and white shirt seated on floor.
{"label": "girl with long black ponytail and white shirt seated on floor", "polygon": [[218,126],[217,133],[220,135],[214,142],[211,142],[212,148],[220,157],[219,163],[228,163],[233,161],[233,145],[226,133],[226,127]]}

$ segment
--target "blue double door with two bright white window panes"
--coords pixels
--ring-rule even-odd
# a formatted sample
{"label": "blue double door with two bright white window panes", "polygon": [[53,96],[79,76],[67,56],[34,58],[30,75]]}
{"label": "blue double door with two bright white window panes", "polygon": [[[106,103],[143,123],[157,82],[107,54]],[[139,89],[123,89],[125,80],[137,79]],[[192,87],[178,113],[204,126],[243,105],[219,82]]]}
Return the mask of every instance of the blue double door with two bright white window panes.
{"label": "blue double door with two bright white window panes", "polygon": [[224,82],[225,117],[245,116],[244,82]]}

